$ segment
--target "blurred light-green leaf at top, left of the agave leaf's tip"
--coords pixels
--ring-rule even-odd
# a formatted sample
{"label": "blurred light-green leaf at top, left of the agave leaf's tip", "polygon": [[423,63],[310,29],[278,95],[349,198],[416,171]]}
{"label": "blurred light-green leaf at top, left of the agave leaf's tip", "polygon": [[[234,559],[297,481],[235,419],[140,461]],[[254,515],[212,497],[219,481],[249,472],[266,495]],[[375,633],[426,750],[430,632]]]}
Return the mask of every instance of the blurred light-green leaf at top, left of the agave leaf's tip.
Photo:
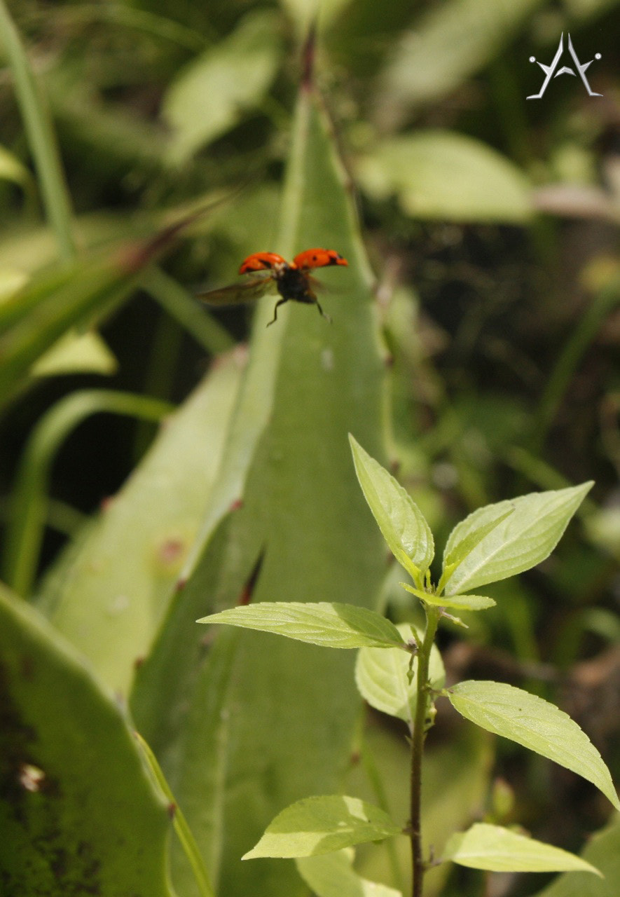
{"label": "blurred light-green leaf at top, left of the agave leaf's tip", "polygon": [[279,17],[255,11],[189,63],[163,99],[163,117],[172,128],[170,161],[187,161],[256,109],[279,61]]}

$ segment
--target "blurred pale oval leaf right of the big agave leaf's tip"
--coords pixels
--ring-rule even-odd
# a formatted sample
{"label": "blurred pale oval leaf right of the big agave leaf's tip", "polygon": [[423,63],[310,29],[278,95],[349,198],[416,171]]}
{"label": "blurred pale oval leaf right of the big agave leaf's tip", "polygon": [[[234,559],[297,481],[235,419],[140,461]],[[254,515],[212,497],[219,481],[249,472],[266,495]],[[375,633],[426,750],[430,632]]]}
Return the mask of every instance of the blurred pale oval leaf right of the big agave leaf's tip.
{"label": "blurred pale oval leaf right of the big agave leaf's tip", "polygon": [[396,195],[412,218],[522,223],[532,213],[520,170],[482,142],[450,131],[385,140],[356,166],[364,190]]}

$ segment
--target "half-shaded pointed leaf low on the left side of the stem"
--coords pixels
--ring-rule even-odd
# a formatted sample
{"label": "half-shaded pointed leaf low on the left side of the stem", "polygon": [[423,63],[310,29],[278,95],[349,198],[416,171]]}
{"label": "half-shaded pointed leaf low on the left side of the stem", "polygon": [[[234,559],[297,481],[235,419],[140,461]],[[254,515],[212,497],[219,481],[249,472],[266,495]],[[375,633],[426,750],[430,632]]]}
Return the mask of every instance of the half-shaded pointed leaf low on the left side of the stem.
{"label": "half-shaded pointed leaf low on the left side of the stem", "polygon": [[399,832],[401,827],[380,807],[358,797],[305,797],[278,814],[242,859],[315,857]]}

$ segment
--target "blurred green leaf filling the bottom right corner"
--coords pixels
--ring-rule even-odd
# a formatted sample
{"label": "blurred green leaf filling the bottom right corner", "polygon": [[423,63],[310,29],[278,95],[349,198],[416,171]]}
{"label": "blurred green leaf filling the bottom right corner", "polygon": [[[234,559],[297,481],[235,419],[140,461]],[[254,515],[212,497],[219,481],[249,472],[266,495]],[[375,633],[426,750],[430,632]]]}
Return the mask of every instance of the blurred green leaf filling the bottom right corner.
{"label": "blurred green leaf filling the bottom right corner", "polygon": [[595,878],[586,872],[566,873],[536,897],[616,897],[620,881],[620,821],[617,817],[602,832],[589,838],[582,856],[605,878]]}

